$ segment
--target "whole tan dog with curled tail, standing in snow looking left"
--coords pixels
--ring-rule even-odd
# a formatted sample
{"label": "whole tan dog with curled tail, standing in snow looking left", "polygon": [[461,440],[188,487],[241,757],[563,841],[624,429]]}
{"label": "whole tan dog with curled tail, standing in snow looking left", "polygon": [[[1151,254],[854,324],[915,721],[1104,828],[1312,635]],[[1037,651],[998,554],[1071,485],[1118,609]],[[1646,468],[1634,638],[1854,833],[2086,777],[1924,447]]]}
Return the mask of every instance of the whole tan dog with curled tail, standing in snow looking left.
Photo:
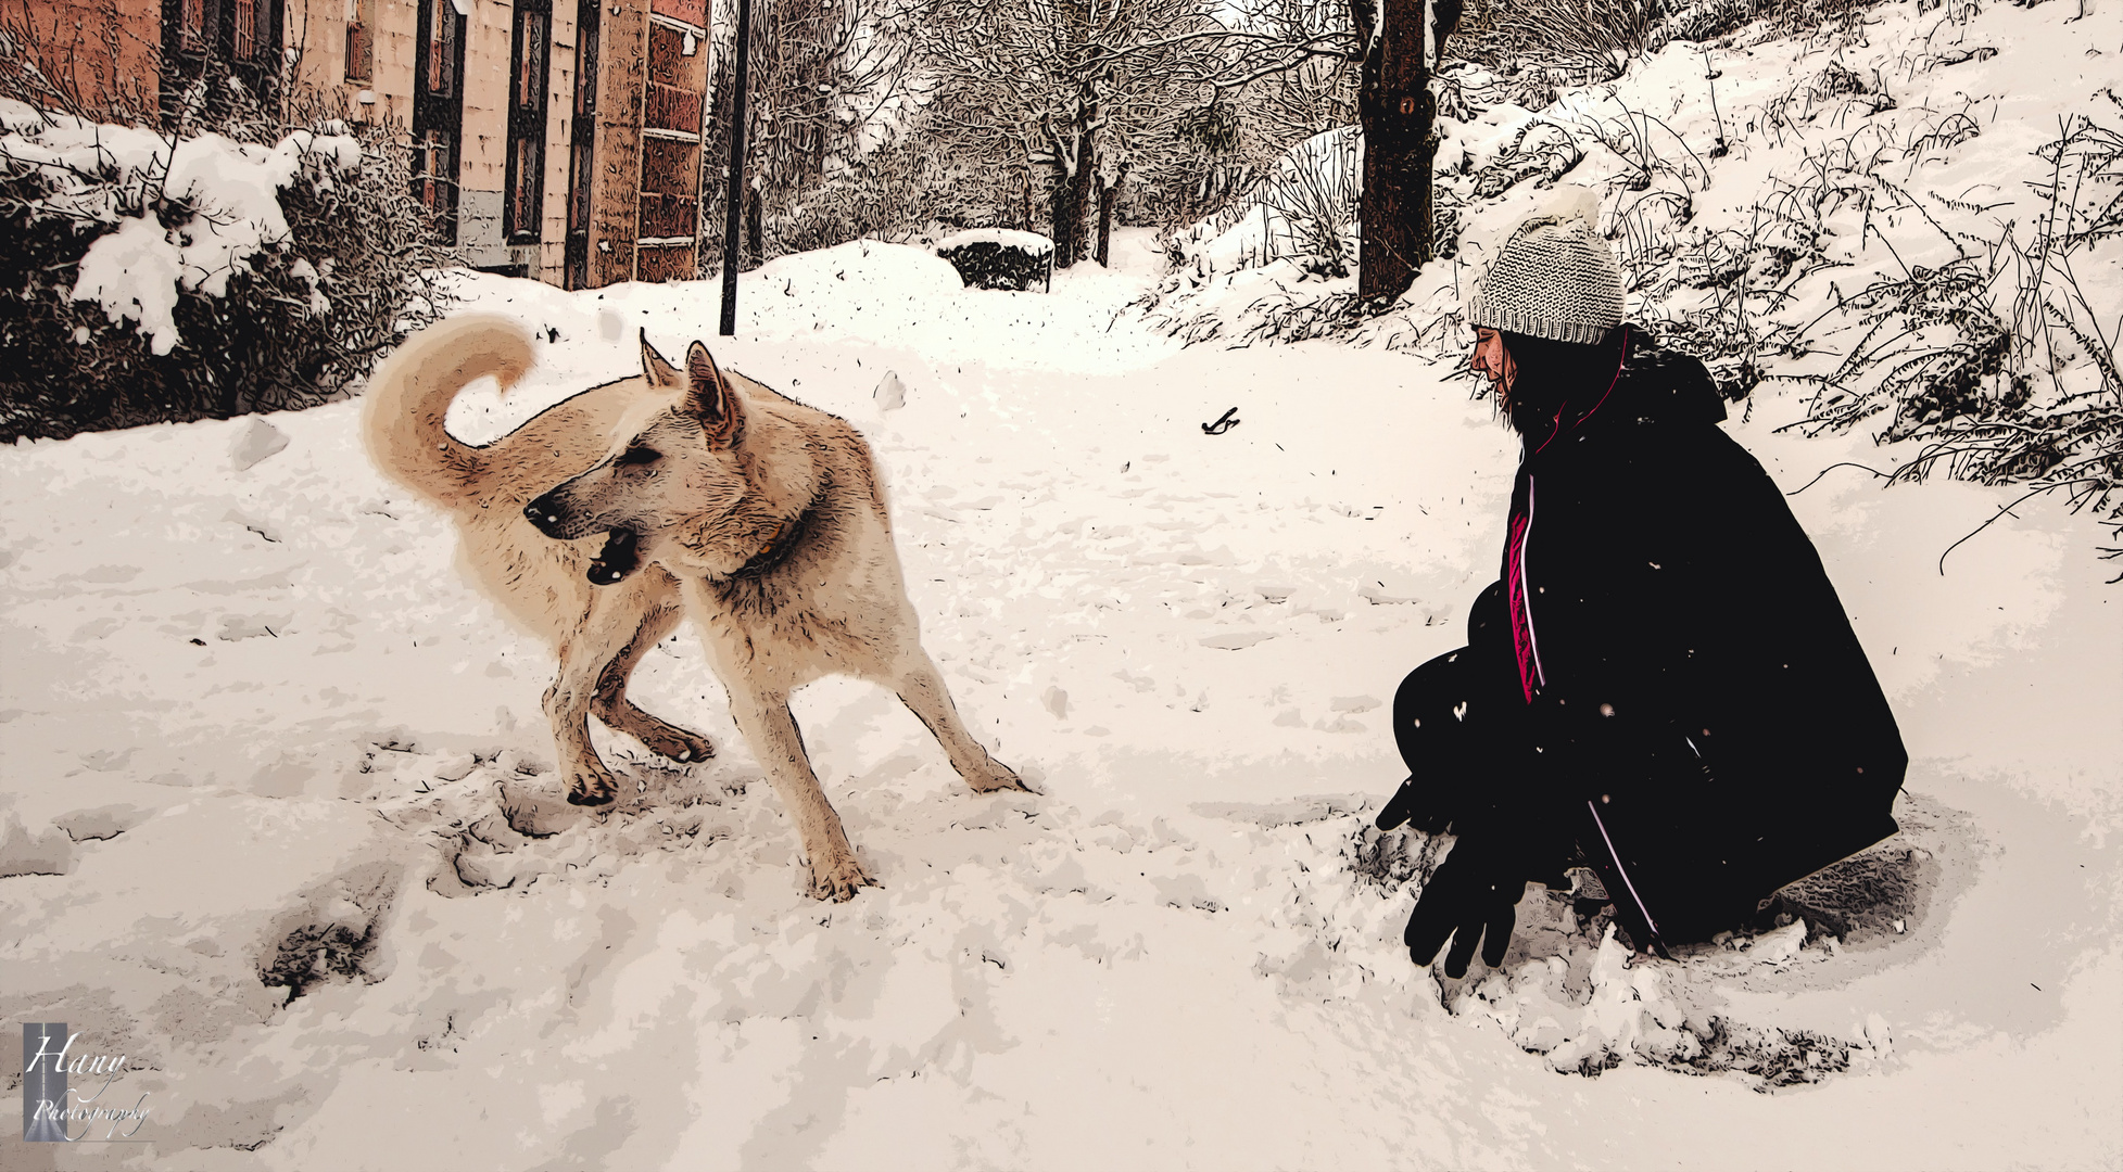
{"label": "whole tan dog with curled tail, standing in snow looking left", "polygon": [[444,431],[467,382],[495,376],[507,389],[531,365],[514,321],[450,318],[378,367],[363,431],[391,480],[456,520],[461,569],[552,643],[560,673],[546,716],[567,800],[614,796],[590,716],[673,760],[713,754],[705,737],[626,701],[626,677],[681,616],[796,817],[811,894],[845,900],[875,879],[805,756],[790,716],[802,684],[830,673],[883,684],[968,786],[1025,788],[966,732],[921,650],[877,469],[853,427],[718,369],[698,342],[677,369],[643,338],[639,376],[582,391],[495,444]]}

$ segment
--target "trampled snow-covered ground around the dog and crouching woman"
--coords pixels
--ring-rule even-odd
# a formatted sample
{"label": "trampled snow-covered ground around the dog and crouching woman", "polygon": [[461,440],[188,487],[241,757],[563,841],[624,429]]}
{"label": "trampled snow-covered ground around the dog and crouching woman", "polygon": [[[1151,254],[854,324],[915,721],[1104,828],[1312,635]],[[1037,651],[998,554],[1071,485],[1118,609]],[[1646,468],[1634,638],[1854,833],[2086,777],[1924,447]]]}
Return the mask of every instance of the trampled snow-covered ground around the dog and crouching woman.
{"label": "trampled snow-covered ground around the dog and crouching woman", "polygon": [[[2100,72],[2117,19],[2087,28]],[[686,631],[635,696],[718,756],[605,739],[631,794],[512,826],[558,792],[552,665],[367,467],[359,403],[0,452],[0,1017],[125,1053],[113,1096],[151,1108],[151,1144],[6,1138],[6,1168],[2123,1164],[2091,518],[2038,499],[1940,563],[2013,495],[1845,467],[1792,497],[1913,756],[1904,834],[1845,868],[1872,898],[1633,962],[1535,892],[1503,970],[1444,981],[1399,945],[1422,843],[1367,826],[1516,444],[1450,363],[1183,348],[1132,308],[1155,248],[1115,253],[1053,293],[790,257],[722,342],[713,282],[465,282],[548,338],[510,401],[465,395],[467,440],[637,369],[637,329],[870,437],[926,643],[1042,794],[964,792],[870,686],[800,692],[883,883],[847,904],[800,894]],[[1792,490],[1892,463],[1777,431],[1800,412],[1768,382],[1728,429]]]}

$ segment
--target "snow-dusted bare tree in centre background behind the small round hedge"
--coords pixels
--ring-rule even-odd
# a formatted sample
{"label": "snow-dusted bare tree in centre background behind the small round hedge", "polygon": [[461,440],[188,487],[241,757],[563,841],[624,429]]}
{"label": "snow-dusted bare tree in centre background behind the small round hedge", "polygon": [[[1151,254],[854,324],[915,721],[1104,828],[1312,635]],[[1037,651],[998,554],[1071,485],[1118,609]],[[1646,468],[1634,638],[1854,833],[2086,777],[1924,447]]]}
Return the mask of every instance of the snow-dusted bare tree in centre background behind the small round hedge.
{"label": "snow-dusted bare tree in centre background behind the small round hedge", "polygon": [[1344,0],[911,2],[926,130],[968,170],[1015,172],[1025,202],[1040,189],[1059,265],[1091,251],[1093,204],[1104,236],[1123,183],[1166,214],[1216,206],[1352,119]]}

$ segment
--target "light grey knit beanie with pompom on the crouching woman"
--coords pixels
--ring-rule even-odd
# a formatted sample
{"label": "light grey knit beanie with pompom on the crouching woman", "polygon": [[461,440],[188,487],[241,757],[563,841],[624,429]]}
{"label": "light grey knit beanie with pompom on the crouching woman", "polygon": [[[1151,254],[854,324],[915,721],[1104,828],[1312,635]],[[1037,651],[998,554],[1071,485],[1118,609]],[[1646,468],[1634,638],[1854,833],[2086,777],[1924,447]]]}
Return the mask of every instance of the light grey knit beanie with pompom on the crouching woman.
{"label": "light grey knit beanie with pompom on the crouching woman", "polygon": [[1622,325],[1622,265],[1582,210],[1522,221],[1467,301],[1467,323],[1599,344]]}

